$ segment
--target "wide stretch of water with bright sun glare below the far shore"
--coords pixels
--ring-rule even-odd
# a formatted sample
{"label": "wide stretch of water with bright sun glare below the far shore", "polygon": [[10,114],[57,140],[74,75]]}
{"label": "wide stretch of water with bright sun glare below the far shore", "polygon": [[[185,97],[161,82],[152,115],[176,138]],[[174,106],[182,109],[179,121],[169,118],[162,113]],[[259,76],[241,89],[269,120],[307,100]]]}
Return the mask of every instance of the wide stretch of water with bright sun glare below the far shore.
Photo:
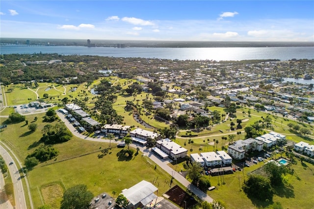
{"label": "wide stretch of water with bright sun glare below the far shore", "polygon": [[113,48],[81,46],[0,46],[1,54],[58,53],[179,60],[314,59],[314,47]]}

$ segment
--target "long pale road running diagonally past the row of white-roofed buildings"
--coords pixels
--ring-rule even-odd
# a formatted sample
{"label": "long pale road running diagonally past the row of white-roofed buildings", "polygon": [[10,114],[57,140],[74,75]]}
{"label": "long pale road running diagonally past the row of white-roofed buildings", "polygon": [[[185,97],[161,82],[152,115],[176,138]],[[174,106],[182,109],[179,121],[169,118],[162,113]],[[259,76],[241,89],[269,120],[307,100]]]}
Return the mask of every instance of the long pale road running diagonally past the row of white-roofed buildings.
{"label": "long pale road running diagonally past the row of white-roofed buildings", "polygon": [[[88,136],[84,136],[80,134],[73,125],[65,118],[65,116],[57,111],[57,115],[59,118],[65,123],[65,125],[68,127],[68,129],[78,138],[82,138],[88,141],[98,141],[98,142],[107,142],[109,143],[108,139],[102,139],[102,138],[92,138]],[[139,148],[140,151],[145,154],[147,157],[149,157],[151,160],[153,160],[158,166],[160,166],[164,171],[166,171],[168,174],[173,176],[178,182],[182,183],[186,188],[188,188],[191,192],[193,192],[196,196],[198,196],[203,201],[207,201],[211,203],[213,199],[209,197],[206,193],[198,189],[196,186],[192,185],[189,181],[187,181],[182,175],[180,175],[178,172],[170,168],[167,163],[168,160],[161,160],[160,158],[156,157],[152,152],[150,152],[146,147],[142,147],[137,144],[131,144],[131,147]]]}

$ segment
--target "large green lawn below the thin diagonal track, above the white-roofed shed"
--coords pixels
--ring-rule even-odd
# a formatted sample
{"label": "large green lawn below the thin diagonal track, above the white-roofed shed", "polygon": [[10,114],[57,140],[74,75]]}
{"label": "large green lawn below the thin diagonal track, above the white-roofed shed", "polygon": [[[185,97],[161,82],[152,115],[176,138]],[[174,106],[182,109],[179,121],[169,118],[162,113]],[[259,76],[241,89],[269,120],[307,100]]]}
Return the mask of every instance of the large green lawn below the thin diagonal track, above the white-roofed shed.
{"label": "large green lawn below the thin diagonal track, above the white-roofed shed", "polygon": [[[171,177],[164,174],[160,168],[154,170],[155,165],[148,157],[137,155],[125,160],[117,157],[119,151],[121,149],[113,148],[102,158],[99,158],[101,152],[98,152],[30,171],[29,179],[35,208],[43,204],[41,199],[43,192],[40,192],[42,188],[55,182],[59,182],[58,184],[65,188],[78,183],[86,184],[95,196],[102,192],[111,195],[112,191],[119,194],[124,188],[129,188],[142,180],[154,182],[159,195],[169,189]],[[56,198],[59,199],[58,196]],[[46,198],[45,202],[51,202],[52,199]]]}

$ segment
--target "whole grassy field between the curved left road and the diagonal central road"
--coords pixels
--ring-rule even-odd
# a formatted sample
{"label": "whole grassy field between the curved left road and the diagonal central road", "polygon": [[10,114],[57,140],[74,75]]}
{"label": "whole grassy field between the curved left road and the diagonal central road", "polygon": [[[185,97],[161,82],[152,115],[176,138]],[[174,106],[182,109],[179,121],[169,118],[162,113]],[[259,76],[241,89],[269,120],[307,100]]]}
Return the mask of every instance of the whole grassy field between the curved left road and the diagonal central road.
{"label": "whole grassy field between the curved left road and the diagonal central road", "polygon": [[[30,123],[35,116],[40,121],[43,114],[26,116],[26,119]],[[0,118],[0,121],[2,123],[4,118]],[[1,140],[23,162],[28,154],[41,146],[37,142],[46,124],[38,122],[38,129],[32,133],[24,126],[25,122],[9,125],[1,132]],[[114,144],[111,143],[112,146]],[[29,171],[35,208],[42,204],[52,204],[53,208],[58,208],[63,190],[78,183],[86,184],[94,195],[102,192],[112,194],[112,191],[120,193],[122,189],[142,180],[154,182],[159,195],[170,187],[171,177],[158,166],[155,169],[154,162],[141,154],[133,155],[130,159],[117,157],[121,149],[112,148],[103,156],[101,150],[108,148],[108,143],[90,142],[76,137],[53,146],[59,151],[59,155]],[[54,192],[48,195],[51,191]]]}

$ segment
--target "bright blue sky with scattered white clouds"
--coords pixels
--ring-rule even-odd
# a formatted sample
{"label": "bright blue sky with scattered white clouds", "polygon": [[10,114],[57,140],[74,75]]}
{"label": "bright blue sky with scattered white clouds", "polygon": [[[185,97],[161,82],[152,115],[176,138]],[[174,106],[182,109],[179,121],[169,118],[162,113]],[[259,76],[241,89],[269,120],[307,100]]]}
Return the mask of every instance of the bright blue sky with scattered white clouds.
{"label": "bright blue sky with scattered white clouds", "polygon": [[313,0],[1,0],[1,37],[314,41]]}

